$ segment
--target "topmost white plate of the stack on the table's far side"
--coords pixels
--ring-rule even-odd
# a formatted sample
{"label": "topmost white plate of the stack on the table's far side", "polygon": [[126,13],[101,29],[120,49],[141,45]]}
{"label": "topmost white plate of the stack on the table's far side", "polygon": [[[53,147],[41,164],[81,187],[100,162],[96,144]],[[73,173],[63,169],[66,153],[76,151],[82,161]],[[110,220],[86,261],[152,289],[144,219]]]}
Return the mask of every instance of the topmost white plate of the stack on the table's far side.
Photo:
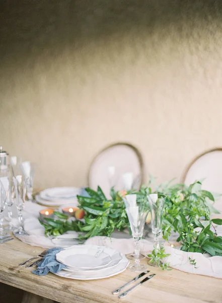
{"label": "topmost white plate of the stack on the table's far side", "polygon": [[40,192],[40,197],[46,200],[67,200],[76,198],[81,194],[82,188],[77,187],[53,187]]}

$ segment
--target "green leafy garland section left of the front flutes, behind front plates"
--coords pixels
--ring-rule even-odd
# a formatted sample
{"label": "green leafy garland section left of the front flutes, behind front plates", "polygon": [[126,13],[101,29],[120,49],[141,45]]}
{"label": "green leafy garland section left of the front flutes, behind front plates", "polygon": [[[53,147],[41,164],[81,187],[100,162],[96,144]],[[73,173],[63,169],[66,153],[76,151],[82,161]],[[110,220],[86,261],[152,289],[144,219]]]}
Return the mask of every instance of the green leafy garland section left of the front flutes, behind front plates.
{"label": "green leafy garland section left of the front flutes, behind front plates", "polygon": [[60,235],[68,230],[82,232],[81,239],[93,236],[110,236],[114,229],[123,230],[128,227],[128,218],[122,197],[113,188],[110,190],[111,199],[107,199],[102,189],[97,191],[86,188],[89,197],[78,195],[79,207],[85,211],[84,220],[70,221],[68,217],[54,212],[61,220],[46,218],[47,223],[40,223],[45,227],[48,236]]}

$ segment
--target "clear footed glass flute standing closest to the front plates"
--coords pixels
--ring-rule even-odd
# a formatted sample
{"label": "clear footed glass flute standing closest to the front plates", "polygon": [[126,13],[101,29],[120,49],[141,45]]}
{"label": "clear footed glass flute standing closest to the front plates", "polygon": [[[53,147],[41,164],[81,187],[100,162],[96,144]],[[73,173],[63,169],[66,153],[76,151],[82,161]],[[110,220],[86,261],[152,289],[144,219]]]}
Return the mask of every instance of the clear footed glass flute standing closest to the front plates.
{"label": "clear footed glass flute standing closest to the front plates", "polygon": [[139,241],[142,238],[143,228],[145,224],[145,219],[149,209],[142,206],[132,206],[126,208],[126,214],[129,219],[130,229],[132,232],[132,237],[135,243],[135,263],[130,264],[127,268],[132,272],[141,272],[146,269],[144,264],[140,264],[139,261]]}

